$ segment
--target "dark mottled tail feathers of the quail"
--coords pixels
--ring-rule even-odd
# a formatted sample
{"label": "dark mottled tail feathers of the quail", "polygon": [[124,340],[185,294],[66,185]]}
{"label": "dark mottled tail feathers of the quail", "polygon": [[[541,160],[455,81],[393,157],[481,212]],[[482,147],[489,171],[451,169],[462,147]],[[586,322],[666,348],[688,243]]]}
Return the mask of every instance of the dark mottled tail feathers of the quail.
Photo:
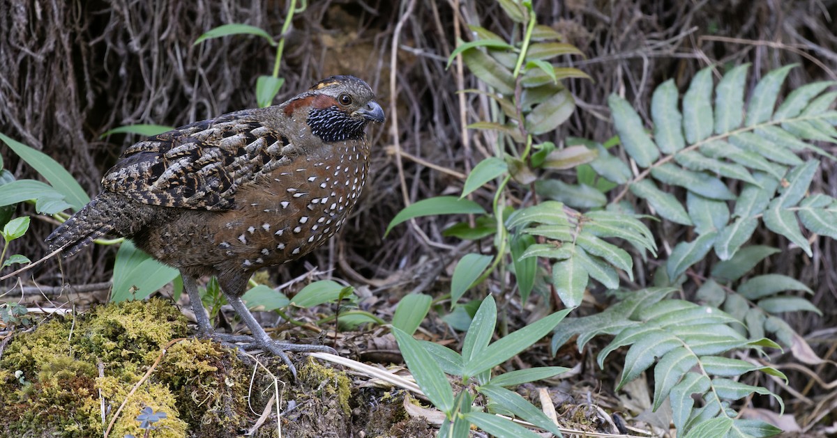
{"label": "dark mottled tail feathers of the quail", "polygon": [[70,257],[112,232],[120,216],[118,204],[123,202],[118,195],[106,191],[96,196],[47,237],[49,252],[63,250],[64,257]]}

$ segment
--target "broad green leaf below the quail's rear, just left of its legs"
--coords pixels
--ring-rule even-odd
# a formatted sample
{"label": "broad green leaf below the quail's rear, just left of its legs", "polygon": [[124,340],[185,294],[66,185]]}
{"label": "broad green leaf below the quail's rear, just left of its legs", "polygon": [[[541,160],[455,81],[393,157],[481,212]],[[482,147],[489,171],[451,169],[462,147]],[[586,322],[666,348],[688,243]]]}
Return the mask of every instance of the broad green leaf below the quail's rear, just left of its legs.
{"label": "broad green leaf below the quail's rear, just left of its legs", "polygon": [[179,273],[177,269],[157,262],[126,240],[116,252],[110,301],[119,303],[127,299],[146,298],[170,283]]}

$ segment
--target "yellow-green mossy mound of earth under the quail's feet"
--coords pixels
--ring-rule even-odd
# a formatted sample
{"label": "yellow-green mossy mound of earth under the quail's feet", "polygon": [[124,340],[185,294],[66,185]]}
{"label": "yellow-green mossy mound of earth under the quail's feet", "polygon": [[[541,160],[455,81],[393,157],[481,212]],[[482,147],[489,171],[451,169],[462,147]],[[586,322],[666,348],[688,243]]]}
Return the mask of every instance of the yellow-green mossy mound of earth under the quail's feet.
{"label": "yellow-green mossy mound of earth under the quail's feet", "polygon": [[[56,315],[16,334],[0,358],[0,437],[104,436],[120,406],[113,438],[143,436],[136,418],[145,408],[166,414],[153,438],[241,436],[269,402],[253,436],[278,436],[279,428],[294,437],[434,435],[423,419],[408,418],[403,397],[358,389],[346,373],[311,358],[297,368],[292,382],[278,358],[242,359],[187,338],[185,318],[163,299]],[[277,392],[281,420],[270,400]]]}

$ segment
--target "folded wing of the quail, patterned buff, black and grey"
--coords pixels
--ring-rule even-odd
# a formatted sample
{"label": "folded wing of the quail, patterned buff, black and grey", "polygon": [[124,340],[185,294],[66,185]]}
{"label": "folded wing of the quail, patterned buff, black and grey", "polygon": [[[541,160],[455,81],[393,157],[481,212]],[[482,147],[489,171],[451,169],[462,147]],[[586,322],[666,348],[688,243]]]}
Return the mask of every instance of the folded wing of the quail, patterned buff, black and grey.
{"label": "folded wing of the quail, patterned buff, black and grey", "polygon": [[144,204],[227,210],[239,186],[280,160],[287,142],[246,110],[222,115],[132,145],[102,186]]}

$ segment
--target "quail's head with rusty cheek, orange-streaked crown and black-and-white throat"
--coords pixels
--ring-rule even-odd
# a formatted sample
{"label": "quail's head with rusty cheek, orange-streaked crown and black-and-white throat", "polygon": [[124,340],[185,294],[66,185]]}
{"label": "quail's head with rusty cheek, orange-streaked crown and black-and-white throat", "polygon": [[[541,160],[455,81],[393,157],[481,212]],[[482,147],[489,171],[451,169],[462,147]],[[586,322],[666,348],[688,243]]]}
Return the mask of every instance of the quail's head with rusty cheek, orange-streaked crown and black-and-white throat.
{"label": "quail's head with rusty cheek, orange-streaked crown and black-and-white throat", "polygon": [[354,76],[331,76],[285,103],[285,115],[303,111],[311,133],[326,143],[357,140],[372,121],[383,123],[381,105],[372,88]]}

